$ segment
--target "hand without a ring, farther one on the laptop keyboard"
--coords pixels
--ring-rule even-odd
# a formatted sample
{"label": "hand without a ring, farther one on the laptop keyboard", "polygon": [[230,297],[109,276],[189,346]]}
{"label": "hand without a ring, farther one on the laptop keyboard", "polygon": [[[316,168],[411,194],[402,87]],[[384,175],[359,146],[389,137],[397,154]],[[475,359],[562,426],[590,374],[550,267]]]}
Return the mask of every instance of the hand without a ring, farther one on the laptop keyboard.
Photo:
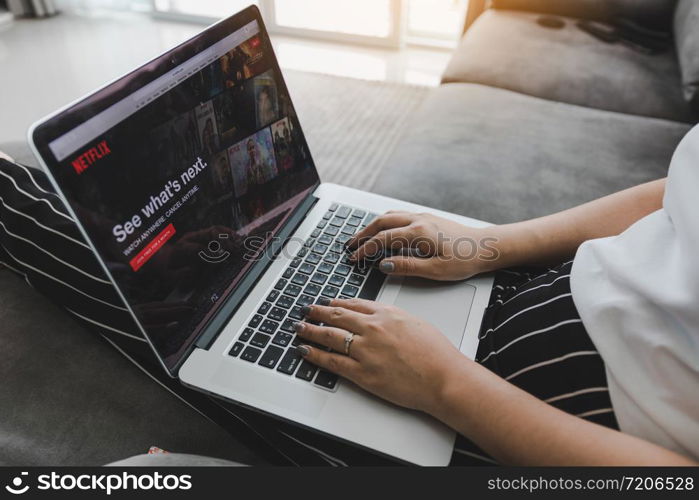
{"label": "hand without a ring, farther one on the laptop keyboard", "polygon": [[[483,229],[430,214],[391,211],[347,242],[350,259],[379,262],[386,274],[450,281],[496,268],[495,243]],[[384,255],[388,251],[400,255]]]}

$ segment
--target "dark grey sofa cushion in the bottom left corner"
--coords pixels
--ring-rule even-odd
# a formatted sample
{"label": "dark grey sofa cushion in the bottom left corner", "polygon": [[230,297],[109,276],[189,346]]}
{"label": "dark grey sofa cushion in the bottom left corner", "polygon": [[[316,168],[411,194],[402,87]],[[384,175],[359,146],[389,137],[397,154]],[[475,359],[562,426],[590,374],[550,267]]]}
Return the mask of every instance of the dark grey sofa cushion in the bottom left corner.
{"label": "dark grey sofa cushion in the bottom left corner", "polygon": [[0,265],[0,465],[173,452],[260,459]]}

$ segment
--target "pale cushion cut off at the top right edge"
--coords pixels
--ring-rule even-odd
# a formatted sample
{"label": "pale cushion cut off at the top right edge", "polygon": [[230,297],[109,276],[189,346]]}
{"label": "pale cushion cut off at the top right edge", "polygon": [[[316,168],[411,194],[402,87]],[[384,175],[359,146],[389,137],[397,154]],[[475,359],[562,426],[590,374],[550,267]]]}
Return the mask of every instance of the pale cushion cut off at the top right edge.
{"label": "pale cushion cut off at the top right edge", "polygon": [[675,43],[685,99],[699,113],[699,2],[680,0],[675,12]]}

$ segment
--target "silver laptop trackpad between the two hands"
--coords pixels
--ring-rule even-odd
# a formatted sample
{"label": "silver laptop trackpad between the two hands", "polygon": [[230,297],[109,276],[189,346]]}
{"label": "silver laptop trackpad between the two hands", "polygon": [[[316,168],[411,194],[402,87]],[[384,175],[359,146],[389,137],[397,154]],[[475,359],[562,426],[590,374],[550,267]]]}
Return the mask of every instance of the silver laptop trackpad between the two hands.
{"label": "silver laptop trackpad between the two hands", "polygon": [[[389,290],[386,292],[390,294]],[[475,294],[476,287],[463,281],[444,282],[409,277],[403,280],[393,304],[432,323],[458,349]],[[387,302],[383,295],[381,302]]]}

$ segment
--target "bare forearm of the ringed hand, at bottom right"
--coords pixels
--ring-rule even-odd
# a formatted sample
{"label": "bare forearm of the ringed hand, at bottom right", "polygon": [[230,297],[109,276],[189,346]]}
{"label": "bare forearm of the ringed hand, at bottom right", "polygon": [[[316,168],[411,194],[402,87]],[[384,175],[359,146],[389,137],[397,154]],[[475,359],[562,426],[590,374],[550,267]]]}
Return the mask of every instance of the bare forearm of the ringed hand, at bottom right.
{"label": "bare forearm of the ringed hand, at bottom right", "polygon": [[429,412],[501,463],[696,465],[649,442],[558,410],[476,363],[445,375]]}

